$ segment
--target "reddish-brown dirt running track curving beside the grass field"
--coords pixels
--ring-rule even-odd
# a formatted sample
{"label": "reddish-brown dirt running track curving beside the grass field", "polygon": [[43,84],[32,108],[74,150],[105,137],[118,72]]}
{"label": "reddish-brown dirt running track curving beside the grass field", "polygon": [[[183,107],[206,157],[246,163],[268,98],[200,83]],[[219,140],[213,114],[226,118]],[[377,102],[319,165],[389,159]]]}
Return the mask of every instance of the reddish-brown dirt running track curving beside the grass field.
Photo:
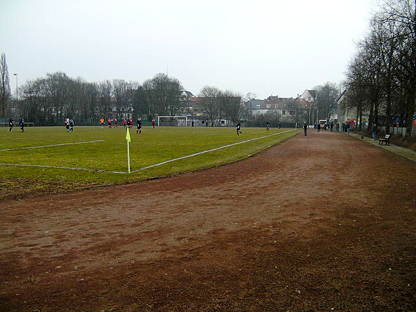
{"label": "reddish-brown dirt running track curving beside the grass field", "polygon": [[228,166],[0,204],[0,311],[415,311],[416,164],[309,130]]}

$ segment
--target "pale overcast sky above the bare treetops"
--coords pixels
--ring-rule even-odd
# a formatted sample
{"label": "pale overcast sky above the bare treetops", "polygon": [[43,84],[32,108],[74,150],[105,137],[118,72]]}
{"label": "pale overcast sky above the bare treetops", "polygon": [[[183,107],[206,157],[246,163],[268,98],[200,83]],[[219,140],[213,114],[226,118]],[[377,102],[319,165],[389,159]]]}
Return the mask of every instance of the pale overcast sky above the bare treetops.
{"label": "pale overcast sky above the bare treetops", "polygon": [[374,0],[0,0],[10,85],[62,71],[88,82],[156,73],[295,97],[340,83]]}

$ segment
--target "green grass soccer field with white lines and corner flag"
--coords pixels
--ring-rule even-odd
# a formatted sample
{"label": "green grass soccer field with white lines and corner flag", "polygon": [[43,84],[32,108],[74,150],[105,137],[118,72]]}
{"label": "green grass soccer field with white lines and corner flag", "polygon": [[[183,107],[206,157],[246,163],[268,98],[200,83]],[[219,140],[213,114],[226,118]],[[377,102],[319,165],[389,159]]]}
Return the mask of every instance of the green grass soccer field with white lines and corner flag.
{"label": "green grass soccer field with white lines and corner flag", "polygon": [[[295,129],[31,127],[0,132],[0,177],[112,184],[194,171],[243,159],[296,135]],[[197,154],[197,155],[196,155]]]}

